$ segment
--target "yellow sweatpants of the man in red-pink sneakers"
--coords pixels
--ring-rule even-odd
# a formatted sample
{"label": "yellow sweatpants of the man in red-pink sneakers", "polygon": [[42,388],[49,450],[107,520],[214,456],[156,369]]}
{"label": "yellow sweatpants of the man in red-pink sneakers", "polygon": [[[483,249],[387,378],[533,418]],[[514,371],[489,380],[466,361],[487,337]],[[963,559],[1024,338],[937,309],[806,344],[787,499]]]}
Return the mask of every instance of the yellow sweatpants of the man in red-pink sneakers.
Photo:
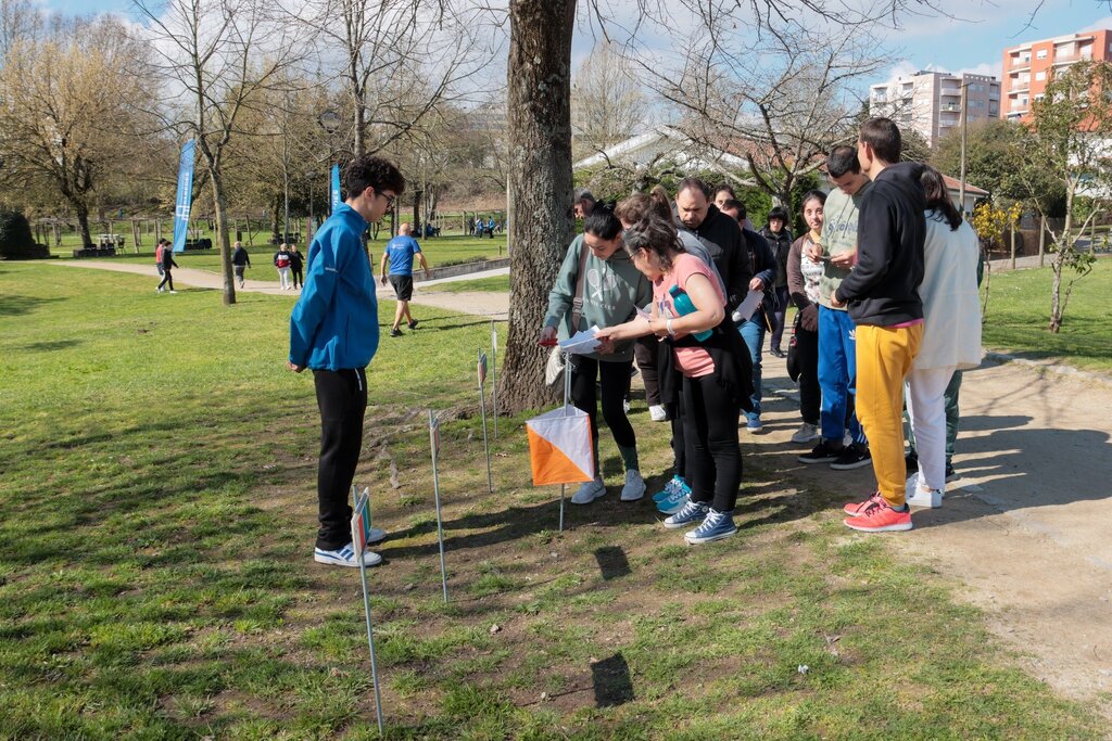
{"label": "yellow sweatpants of the man in red-pink sneakers", "polygon": [[868,438],[876,488],[892,507],[904,503],[903,382],[922,339],[922,324],[857,324],[857,420]]}

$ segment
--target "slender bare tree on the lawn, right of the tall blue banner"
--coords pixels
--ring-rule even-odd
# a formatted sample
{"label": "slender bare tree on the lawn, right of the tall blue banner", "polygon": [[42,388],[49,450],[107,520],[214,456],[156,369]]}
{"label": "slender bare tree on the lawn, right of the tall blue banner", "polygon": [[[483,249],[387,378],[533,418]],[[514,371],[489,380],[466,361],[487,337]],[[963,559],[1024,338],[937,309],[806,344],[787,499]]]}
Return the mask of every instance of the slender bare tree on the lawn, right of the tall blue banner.
{"label": "slender bare tree on the lawn, right of the tall blue banner", "polygon": [[137,0],[146,17],[153,63],[168,96],[168,124],[197,142],[212,193],[224,272],[224,302],[236,302],[228,234],[225,157],[244,112],[267,91],[284,89],[305,58],[305,27],[275,1]]}

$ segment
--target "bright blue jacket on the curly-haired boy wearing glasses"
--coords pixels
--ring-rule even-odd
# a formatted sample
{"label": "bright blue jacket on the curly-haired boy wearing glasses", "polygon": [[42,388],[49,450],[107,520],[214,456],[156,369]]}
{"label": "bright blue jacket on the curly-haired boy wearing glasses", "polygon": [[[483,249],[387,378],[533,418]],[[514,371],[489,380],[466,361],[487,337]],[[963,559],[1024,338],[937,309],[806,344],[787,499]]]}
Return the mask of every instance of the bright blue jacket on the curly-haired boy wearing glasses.
{"label": "bright blue jacket on the curly-haired boy wearing glasses", "polygon": [[289,361],[312,370],[365,368],[378,349],[375,276],[359,241],[367,221],[346,203],[309,246],[305,286],[289,318]]}

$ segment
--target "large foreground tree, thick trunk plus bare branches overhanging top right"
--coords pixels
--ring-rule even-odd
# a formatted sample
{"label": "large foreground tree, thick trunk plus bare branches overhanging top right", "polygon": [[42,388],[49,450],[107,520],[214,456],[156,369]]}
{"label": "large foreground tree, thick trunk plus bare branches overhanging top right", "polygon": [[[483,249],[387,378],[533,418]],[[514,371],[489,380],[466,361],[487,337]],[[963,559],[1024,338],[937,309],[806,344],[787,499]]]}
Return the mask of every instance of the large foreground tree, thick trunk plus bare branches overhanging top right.
{"label": "large foreground tree, thick trunk plus bare branches overhanging top right", "polygon": [[[673,13],[695,12],[705,28],[724,29],[719,11],[737,11],[748,28],[777,28],[803,13],[824,18],[833,26],[861,27],[877,19],[892,21],[933,10],[934,0],[878,0],[856,9],[836,0],[638,0],[633,29],[645,23],[668,29]],[[548,288],[559,258],[573,233],[569,68],[576,0],[509,0],[510,51],[508,64],[509,201],[510,201],[510,316],[506,370],[499,395],[512,411],[549,403],[544,353],[536,346]],[[610,3],[587,0],[584,10],[603,30],[613,27]],[[741,11],[745,10],[746,13]],[[800,52],[793,49],[793,52]],[[832,66],[831,76],[842,70]],[[864,73],[864,72],[862,72]],[[802,151],[793,162],[806,161]],[[788,150],[785,150],[788,151]],[[785,157],[786,159],[786,157]],[[808,162],[810,166],[810,162]],[[797,177],[800,171],[796,171]]]}

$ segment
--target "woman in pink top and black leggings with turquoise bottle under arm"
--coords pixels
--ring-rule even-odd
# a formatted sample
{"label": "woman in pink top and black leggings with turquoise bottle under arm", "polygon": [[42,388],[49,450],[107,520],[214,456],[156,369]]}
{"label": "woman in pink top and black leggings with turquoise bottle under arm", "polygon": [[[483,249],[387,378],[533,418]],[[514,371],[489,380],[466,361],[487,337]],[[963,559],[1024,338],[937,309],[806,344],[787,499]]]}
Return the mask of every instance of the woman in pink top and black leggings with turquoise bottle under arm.
{"label": "woman in pink top and black leggings with turquoise bottle under arm", "polygon": [[668,403],[679,401],[684,433],[693,441],[689,501],[664,527],[694,527],[685,534],[689,543],[727,538],[737,532],[737,421],[752,391],[748,353],[726,316],[726,299],[714,274],[683,251],[671,221],[649,216],[626,230],[624,244],[634,266],[653,282],[652,313],[597,337],[661,338],[662,397]]}

